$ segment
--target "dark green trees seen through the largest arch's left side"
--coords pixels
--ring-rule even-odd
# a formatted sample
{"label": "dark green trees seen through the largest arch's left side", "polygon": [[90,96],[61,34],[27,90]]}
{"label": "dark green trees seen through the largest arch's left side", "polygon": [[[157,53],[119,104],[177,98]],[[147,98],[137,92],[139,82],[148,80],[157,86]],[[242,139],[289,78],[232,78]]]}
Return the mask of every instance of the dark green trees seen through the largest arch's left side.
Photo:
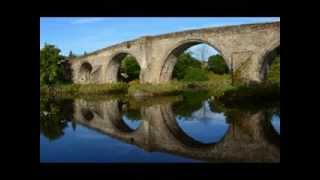
{"label": "dark green trees seen through the largest arch's left side", "polygon": [[201,62],[193,58],[190,53],[183,53],[178,57],[172,76],[178,80],[184,79],[188,67],[200,69]]}

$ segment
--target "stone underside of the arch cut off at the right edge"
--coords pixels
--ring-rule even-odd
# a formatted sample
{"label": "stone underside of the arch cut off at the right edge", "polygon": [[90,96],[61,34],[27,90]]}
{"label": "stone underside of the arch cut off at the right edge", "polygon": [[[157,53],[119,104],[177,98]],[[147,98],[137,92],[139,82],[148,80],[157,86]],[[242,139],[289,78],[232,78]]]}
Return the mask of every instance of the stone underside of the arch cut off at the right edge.
{"label": "stone underside of the arch cut off at the right edge", "polygon": [[257,70],[259,72],[259,78],[262,81],[266,79],[269,67],[272,64],[277,51],[280,54],[280,39],[271,43],[263,52],[260,53],[261,56],[259,57]]}

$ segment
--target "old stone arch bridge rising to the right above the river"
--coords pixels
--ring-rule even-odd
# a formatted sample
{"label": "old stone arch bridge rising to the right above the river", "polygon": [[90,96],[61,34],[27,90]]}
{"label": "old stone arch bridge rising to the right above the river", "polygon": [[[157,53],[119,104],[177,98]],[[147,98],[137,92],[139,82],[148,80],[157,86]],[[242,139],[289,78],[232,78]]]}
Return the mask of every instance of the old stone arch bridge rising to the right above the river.
{"label": "old stone arch bridge rising to the right above the river", "polygon": [[140,65],[140,82],[157,84],[169,81],[177,57],[200,43],[212,46],[224,57],[235,81],[259,83],[265,78],[270,54],[280,49],[280,22],[144,36],[67,62],[74,83],[113,83],[118,81],[121,60],[129,54]]}

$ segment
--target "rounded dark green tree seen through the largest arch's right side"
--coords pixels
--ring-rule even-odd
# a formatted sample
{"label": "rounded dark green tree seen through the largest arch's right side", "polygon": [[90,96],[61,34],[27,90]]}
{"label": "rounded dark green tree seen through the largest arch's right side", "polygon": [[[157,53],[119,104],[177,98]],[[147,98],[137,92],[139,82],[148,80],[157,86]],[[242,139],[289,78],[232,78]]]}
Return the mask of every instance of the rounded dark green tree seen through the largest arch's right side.
{"label": "rounded dark green tree seen through the largest arch's right side", "polygon": [[213,55],[209,57],[208,69],[216,74],[226,74],[229,73],[228,66],[221,55]]}

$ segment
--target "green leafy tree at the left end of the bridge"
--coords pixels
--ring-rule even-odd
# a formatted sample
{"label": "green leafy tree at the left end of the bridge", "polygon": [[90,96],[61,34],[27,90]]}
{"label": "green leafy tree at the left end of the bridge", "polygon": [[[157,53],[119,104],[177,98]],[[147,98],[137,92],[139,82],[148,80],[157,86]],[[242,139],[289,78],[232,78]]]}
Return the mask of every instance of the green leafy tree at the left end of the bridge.
{"label": "green leafy tree at the left end of the bridge", "polygon": [[63,65],[64,59],[60,55],[60,49],[54,45],[45,44],[40,50],[40,84],[53,85],[64,80]]}

